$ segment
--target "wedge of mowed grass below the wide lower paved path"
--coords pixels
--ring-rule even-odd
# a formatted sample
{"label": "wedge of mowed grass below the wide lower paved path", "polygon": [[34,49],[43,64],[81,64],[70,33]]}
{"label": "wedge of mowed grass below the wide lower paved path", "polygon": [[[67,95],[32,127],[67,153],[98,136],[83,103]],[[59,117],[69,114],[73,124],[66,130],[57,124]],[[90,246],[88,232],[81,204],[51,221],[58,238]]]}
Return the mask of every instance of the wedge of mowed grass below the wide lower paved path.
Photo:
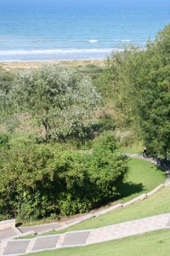
{"label": "wedge of mowed grass below the wide lower paved path", "polygon": [[107,241],[86,247],[70,247],[31,253],[34,256],[165,256],[170,253],[170,230],[158,230],[140,236]]}

